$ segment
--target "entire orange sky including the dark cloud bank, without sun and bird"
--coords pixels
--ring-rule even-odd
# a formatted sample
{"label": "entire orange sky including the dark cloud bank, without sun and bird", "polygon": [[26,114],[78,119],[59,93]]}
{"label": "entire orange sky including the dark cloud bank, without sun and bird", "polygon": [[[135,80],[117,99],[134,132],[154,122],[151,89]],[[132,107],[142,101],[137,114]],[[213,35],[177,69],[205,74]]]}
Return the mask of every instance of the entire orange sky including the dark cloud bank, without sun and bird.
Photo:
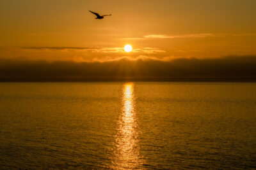
{"label": "entire orange sky including the dark cloud bank, without sun and bird", "polygon": [[255,9],[255,0],[2,0],[0,78],[256,77]]}

